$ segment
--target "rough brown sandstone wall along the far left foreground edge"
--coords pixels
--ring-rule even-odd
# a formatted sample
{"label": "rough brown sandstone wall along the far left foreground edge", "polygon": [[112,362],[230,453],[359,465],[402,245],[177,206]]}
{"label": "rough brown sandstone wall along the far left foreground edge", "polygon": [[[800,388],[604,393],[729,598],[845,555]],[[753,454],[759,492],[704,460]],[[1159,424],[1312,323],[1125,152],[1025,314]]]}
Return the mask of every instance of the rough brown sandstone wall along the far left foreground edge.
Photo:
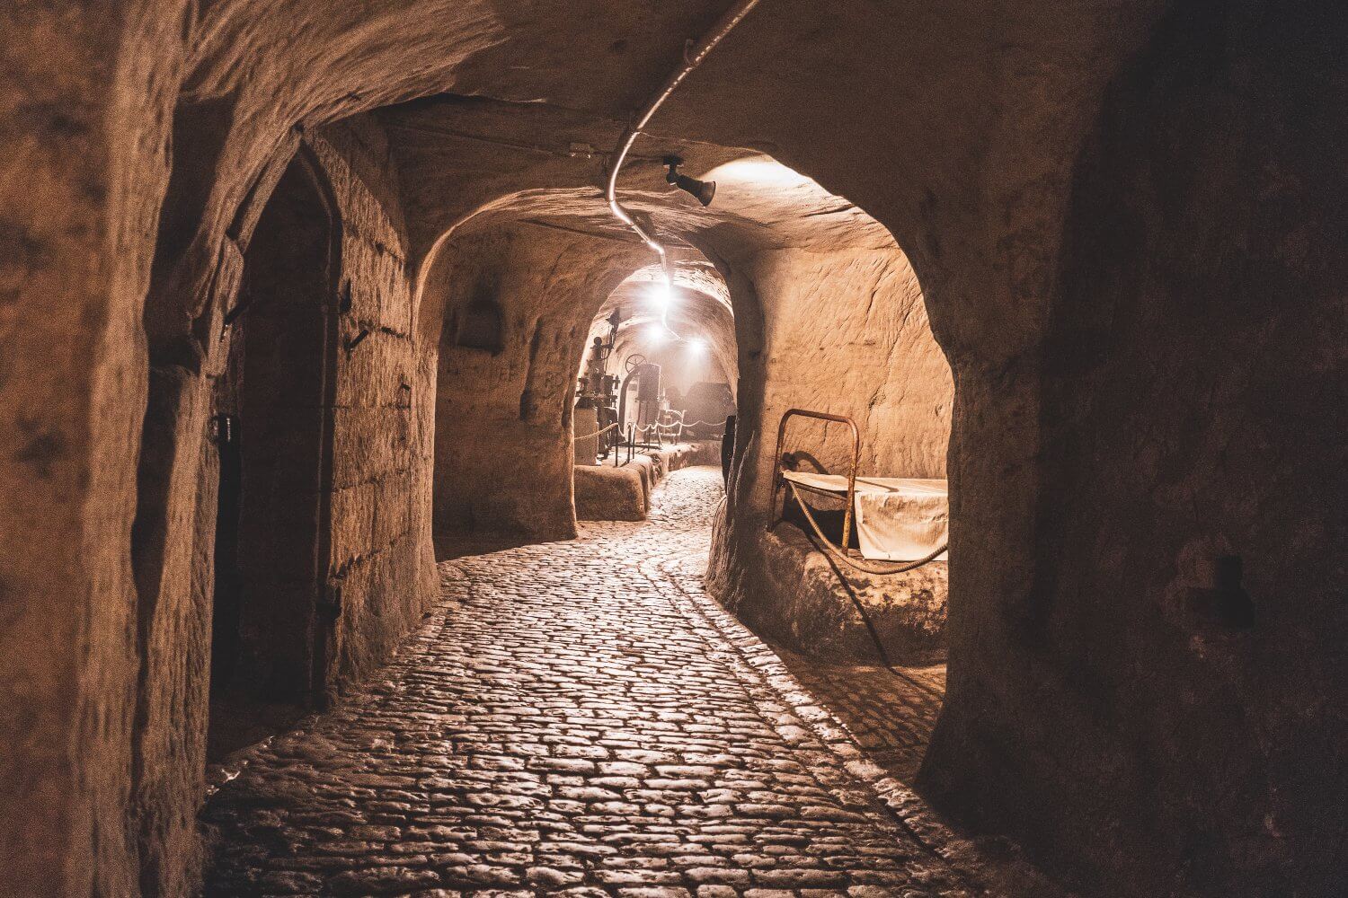
{"label": "rough brown sandstone wall along the far left foreground edge", "polygon": [[[15,8],[16,5],[22,8]],[[185,4],[3,4],[0,893],[132,894],[140,303]]]}

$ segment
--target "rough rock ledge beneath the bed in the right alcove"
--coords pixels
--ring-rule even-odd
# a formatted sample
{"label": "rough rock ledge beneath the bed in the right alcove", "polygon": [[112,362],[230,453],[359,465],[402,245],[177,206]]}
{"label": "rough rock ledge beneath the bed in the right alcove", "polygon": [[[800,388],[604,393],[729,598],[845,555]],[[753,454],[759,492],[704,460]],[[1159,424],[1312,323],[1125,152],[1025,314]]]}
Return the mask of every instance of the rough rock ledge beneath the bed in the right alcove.
{"label": "rough rock ledge beneath the bed in the right alcove", "polygon": [[[713,540],[713,555],[718,545]],[[871,576],[826,557],[789,522],[764,532],[758,549],[756,576],[736,578],[718,595],[755,633],[830,661],[883,661],[876,637],[892,664],[945,661],[948,563]]]}

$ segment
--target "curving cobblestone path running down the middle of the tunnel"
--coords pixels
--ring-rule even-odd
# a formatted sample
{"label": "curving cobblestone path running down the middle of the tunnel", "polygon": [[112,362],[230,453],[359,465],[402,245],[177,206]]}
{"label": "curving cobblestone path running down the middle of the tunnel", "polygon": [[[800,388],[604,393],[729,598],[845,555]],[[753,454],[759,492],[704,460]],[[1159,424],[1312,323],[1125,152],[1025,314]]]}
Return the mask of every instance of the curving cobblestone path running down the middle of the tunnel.
{"label": "curving cobblestone path running down the middle of the tunnel", "polygon": [[229,770],[206,894],[987,894],[701,592],[718,498],[442,564],[391,665]]}

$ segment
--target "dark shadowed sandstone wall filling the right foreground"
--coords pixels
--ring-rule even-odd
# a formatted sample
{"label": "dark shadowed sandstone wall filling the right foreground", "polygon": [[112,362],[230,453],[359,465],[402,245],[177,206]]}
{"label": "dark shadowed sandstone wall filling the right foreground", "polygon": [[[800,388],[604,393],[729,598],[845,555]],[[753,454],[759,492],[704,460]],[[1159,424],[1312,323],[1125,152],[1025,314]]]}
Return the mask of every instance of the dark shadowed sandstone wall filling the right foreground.
{"label": "dark shadowed sandstone wall filling the right foreground", "polygon": [[[1345,885],[1348,18],[1258,5],[1177,11],[1077,159],[1016,463],[1031,574],[961,615],[923,777],[1120,894]],[[995,401],[964,400],[965,458]],[[980,498],[958,545],[1006,525]]]}

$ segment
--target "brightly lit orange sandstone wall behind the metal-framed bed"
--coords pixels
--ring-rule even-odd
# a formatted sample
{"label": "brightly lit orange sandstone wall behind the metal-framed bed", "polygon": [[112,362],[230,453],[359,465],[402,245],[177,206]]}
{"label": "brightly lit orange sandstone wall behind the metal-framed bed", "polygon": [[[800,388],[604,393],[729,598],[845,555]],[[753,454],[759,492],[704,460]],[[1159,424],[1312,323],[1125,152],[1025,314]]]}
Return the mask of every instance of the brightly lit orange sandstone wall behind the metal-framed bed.
{"label": "brightly lit orange sandstone wall behind the metal-framed bed", "polygon": [[[771,473],[767,443],[793,407],[853,417],[861,431],[859,473],[945,477],[954,385],[902,252],[774,250],[754,256],[736,276],[752,283],[763,307],[764,444],[754,459],[756,483]],[[797,427],[803,434],[795,435]],[[794,442],[829,470],[844,470],[852,451],[845,425],[797,420],[791,428],[785,451]]]}

